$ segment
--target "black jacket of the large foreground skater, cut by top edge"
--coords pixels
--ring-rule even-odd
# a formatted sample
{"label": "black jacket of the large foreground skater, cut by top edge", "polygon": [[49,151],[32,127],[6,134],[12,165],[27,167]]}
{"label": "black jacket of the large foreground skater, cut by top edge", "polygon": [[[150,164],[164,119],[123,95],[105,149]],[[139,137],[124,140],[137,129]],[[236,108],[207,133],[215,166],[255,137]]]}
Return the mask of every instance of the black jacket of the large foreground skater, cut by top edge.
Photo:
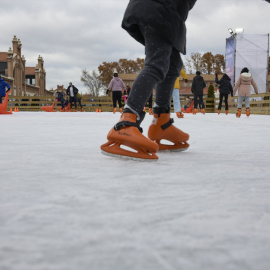
{"label": "black jacket of the large foreground skater, cut by top edge", "polygon": [[122,27],[145,45],[140,26],[149,26],[186,54],[186,25],[189,10],[197,0],[130,0]]}

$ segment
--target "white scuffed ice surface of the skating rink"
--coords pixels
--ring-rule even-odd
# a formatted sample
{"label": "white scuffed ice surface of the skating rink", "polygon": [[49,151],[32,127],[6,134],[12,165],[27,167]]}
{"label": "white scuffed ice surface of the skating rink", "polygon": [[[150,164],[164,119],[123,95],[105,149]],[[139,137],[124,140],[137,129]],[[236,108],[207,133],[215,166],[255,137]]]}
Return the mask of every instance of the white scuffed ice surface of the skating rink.
{"label": "white scuffed ice surface of the skating rink", "polygon": [[0,115],[1,270],[270,269],[270,116],[175,118],[157,162],[101,154],[118,119]]}

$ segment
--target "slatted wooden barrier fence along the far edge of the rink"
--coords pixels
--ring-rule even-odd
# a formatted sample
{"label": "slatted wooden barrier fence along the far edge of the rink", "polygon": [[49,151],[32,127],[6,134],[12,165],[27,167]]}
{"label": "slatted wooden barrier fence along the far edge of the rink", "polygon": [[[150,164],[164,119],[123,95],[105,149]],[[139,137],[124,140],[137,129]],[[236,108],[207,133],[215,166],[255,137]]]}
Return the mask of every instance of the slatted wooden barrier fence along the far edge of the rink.
{"label": "slatted wooden barrier fence along the far edge of the rink", "polygon": [[[19,108],[19,111],[42,111],[42,106],[52,105],[55,97],[40,96],[9,96],[9,102],[7,111],[11,108],[14,111],[15,108]],[[185,104],[185,97],[181,96],[182,107]],[[229,113],[236,113],[237,111],[237,99],[238,96],[229,97]],[[204,103],[206,107],[206,113],[217,113],[219,98],[207,98],[204,97]],[[82,98],[83,109],[86,112],[96,112],[96,109],[101,109],[102,112],[112,112],[112,98],[111,97],[83,97]],[[60,107],[60,102],[57,102],[55,110]],[[123,102],[124,106],[124,102]],[[79,107],[78,107],[79,108]],[[224,112],[224,102],[222,104],[221,112]],[[242,110],[245,110],[245,104],[243,103]],[[146,107],[148,111],[148,107]],[[171,103],[171,111],[174,112],[173,102]],[[262,93],[258,95],[251,95],[250,98],[250,111],[253,114],[267,114],[270,115],[270,92]]]}

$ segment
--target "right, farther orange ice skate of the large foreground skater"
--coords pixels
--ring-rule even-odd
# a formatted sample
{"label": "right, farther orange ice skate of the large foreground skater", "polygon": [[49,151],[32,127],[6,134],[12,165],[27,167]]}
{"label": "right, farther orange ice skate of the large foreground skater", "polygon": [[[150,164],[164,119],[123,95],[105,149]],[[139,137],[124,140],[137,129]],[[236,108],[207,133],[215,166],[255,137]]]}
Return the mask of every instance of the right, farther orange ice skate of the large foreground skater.
{"label": "right, farther orange ice skate of the large foreground skater", "polygon": [[[173,122],[169,110],[154,108],[154,118],[148,130],[148,138],[158,144],[160,151],[184,151],[189,147],[187,143],[189,135],[175,127]],[[162,144],[161,140],[170,141],[173,145]]]}

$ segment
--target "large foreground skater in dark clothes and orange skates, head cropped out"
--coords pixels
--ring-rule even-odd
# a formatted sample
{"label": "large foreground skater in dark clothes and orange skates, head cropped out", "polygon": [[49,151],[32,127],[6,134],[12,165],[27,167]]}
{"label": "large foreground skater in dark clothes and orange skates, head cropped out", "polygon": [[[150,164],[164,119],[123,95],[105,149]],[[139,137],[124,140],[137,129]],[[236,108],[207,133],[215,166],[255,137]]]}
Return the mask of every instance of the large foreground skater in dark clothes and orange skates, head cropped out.
{"label": "large foreground skater in dark clothes and orange skates, head cropped out", "polygon": [[[109,131],[104,154],[143,160],[158,159],[158,150],[188,149],[189,135],[173,125],[170,118],[174,82],[183,66],[180,53],[186,53],[185,21],[196,0],[130,0],[122,27],[145,46],[145,65],[135,80],[120,121]],[[154,118],[148,138],[142,134],[144,105],[156,86]],[[162,144],[168,140],[173,145]],[[135,151],[121,148],[128,146]]]}

